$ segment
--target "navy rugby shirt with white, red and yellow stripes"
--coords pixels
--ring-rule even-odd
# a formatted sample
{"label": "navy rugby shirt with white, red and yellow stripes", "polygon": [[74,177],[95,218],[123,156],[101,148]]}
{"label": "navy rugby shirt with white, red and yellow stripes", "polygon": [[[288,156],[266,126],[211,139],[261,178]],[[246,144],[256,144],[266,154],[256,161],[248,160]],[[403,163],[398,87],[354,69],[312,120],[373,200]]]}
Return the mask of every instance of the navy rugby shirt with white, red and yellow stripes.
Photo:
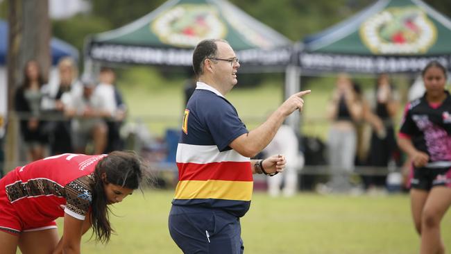
{"label": "navy rugby shirt with white, red and yellow stripes", "polygon": [[173,205],[246,214],[253,191],[250,158],[228,146],[244,133],[248,130],[235,107],[213,87],[198,82],[183,117]]}

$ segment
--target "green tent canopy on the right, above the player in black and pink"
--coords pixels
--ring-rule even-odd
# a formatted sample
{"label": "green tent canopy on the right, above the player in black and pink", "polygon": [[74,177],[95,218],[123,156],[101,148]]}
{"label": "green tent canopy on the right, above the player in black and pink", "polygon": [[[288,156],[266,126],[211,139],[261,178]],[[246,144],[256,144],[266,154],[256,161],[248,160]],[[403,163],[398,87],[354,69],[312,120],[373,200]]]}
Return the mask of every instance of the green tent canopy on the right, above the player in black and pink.
{"label": "green tent canopy on the right, above the player in black and pink", "polygon": [[417,72],[451,68],[451,20],[420,0],[380,0],[321,33],[299,53],[303,71]]}

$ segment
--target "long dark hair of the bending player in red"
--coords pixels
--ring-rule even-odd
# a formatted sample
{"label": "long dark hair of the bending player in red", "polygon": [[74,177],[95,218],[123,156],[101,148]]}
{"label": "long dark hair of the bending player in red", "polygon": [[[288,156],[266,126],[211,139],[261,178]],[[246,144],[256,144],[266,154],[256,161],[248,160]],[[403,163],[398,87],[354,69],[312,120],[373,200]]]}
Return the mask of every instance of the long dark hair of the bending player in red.
{"label": "long dark hair of the bending player in red", "polygon": [[94,186],[92,188],[91,223],[96,241],[106,243],[110,240],[111,232],[107,197],[103,188],[102,173],[106,174],[106,181],[128,189],[137,189],[144,176],[144,167],[138,155],[134,152],[114,151],[101,160],[94,170]]}

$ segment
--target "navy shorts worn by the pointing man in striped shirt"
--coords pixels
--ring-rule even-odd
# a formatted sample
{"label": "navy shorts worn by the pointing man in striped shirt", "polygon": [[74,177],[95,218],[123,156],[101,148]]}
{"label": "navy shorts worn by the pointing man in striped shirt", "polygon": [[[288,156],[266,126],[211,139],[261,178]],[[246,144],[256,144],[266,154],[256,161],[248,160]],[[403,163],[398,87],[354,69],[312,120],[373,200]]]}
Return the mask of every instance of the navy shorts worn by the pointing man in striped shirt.
{"label": "navy shorts worn by the pointing man in striped shirt", "polygon": [[172,205],[169,233],[183,253],[244,252],[239,218],[223,210]]}

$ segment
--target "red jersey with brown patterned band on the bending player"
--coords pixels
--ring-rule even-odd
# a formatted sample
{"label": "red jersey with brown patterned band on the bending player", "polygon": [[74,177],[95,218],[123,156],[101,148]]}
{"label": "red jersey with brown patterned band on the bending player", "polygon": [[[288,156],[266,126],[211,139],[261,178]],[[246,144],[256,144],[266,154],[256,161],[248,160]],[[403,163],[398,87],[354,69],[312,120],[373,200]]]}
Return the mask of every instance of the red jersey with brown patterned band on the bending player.
{"label": "red jersey with brown patterned band on the bending player", "polygon": [[65,212],[83,220],[92,202],[92,173],[105,156],[65,153],[17,167],[2,179],[8,200],[22,221],[54,220]]}

